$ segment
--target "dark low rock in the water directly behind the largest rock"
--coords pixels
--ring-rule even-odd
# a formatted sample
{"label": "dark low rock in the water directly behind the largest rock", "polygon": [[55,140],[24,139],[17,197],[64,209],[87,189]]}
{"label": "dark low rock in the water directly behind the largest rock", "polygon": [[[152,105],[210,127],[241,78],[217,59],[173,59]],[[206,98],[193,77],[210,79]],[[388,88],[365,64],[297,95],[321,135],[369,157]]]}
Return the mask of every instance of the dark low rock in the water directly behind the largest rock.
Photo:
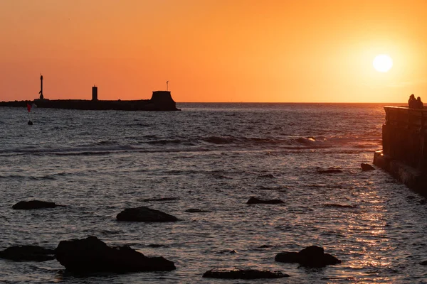
{"label": "dark low rock in the water directly behind the largest rock", "polygon": [[148,207],[126,208],[117,214],[117,221],[130,222],[176,222],[178,219],[162,211]]}

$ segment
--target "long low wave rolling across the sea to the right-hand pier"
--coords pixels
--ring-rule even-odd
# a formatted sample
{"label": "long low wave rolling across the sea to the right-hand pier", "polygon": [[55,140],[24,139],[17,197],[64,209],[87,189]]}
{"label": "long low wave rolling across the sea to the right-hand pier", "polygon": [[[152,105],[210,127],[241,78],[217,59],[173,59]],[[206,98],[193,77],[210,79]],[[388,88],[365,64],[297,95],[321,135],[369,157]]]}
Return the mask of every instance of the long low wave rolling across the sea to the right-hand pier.
{"label": "long low wave rolling across the sea to the right-hand pier", "polygon": [[304,151],[307,149],[334,148],[332,152],[347,151],[360,153],[381,148],[378,138],[359,138],[356,136],[170,136],[159,138],[154,135],[124,137],[120,140],[100,140],[83,143],[72,147],[31,146],[25,148],[0,149],[1,155],[108,155],[119,151],[142,152],[179,152],[179,151],[223,151],[251,150],[253,148],[270,151]]}

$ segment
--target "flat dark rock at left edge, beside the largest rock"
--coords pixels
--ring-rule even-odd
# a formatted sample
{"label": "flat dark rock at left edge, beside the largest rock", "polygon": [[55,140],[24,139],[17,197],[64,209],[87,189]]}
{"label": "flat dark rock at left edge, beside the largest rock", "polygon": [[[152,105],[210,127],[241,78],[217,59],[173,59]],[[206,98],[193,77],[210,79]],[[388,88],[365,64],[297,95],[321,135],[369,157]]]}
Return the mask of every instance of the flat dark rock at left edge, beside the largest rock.
{"label": "flat dark rock at left edge, beside the largest rock", "polygon": [[50,261],[55,259],[55,250],[40,246],[11,246],[0,251],[0,258],[12,261]]}

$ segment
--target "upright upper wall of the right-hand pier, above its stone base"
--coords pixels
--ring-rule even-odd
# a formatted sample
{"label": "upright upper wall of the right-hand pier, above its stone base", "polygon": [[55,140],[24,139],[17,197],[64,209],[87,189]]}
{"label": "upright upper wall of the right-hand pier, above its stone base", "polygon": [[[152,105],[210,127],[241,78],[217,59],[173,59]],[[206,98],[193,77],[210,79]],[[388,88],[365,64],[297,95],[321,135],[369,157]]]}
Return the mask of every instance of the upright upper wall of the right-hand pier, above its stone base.
{"label": "upright upper wall of the right-hand pier, above its stone base", "polygon": [[384,107],[383,153],[427,172],[427,109]]}

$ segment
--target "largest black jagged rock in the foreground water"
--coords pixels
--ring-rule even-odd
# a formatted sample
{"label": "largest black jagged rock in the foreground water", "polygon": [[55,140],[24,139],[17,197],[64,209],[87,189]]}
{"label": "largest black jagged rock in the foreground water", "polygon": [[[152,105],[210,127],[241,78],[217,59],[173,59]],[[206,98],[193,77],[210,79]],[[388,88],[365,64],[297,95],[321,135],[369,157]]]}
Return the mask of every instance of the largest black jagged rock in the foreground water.
{"label": "largest black jagged rock in the foreground water", "polygon": [[172,271],[172,261],[160,257],[147,257],[129,246],[110,247],[96,236],[86,239],[60,241],[56,248],[56,259],[68,271],[89,272],[136,272]]}

